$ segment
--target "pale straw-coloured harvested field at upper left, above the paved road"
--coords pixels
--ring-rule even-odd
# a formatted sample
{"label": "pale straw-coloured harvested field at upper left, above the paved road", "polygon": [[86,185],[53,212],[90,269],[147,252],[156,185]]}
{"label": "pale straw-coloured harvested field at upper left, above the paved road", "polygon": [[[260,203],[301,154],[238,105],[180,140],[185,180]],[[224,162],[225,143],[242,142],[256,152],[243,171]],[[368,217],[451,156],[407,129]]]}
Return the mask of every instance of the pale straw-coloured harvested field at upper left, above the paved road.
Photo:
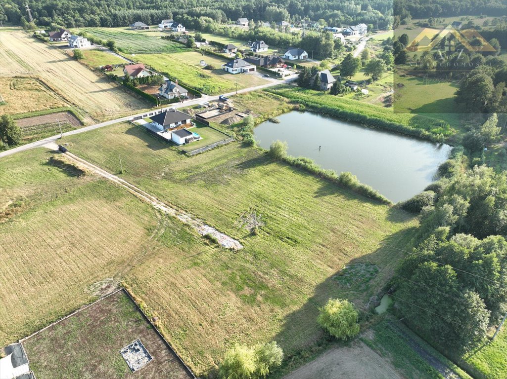
{"label": "pale straw-coloured harvested field at upper left, above the paved road", "polygon": [[[119,85],[22,31],[2,31],[0,50],[2,58],[8,58],[6,65],[2,62],[0,75],[39,77],[56,96],[95,120],[113,119],[147,108],[146,103]],[[11,102],[15,103],[15,99]]]}

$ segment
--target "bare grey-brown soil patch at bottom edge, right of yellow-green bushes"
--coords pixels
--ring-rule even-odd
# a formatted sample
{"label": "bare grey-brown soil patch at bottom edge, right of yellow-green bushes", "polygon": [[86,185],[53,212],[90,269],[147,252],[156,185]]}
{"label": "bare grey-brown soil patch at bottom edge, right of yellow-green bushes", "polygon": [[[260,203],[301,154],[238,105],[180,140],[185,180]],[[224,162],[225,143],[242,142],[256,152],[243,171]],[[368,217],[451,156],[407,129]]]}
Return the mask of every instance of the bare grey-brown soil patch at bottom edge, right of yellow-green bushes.
{"label": "bare grey-brown soil patch at bottom edge, right of yellow-green bushes", "polygon": [[362,342],[328,350],[284,379],[402,379],[394,366]]}

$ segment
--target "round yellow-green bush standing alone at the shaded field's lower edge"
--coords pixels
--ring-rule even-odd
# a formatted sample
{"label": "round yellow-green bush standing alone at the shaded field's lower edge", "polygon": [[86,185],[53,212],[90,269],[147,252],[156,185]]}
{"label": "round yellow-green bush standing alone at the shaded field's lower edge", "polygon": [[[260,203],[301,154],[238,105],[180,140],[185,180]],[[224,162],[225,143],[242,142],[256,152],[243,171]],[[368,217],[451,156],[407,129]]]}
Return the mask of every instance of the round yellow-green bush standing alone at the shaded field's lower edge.
{"label": "round yellow-green bush standing alone at the shaded field's lower edge", "polygon": [[329,299],[319,308],[317,323],[335,338],[347,340],[359,333],[359,314],[348,300]]}

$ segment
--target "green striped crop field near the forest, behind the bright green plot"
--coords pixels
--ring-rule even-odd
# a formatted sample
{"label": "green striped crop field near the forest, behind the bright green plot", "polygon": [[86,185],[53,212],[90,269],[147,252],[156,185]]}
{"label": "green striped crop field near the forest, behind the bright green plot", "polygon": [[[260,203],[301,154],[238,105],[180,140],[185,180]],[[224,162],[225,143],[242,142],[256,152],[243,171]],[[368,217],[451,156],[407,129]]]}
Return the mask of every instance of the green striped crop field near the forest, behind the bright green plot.
{"label": "green striped crop field near the forest, behind the bright green plot", "polygon": [[162,33],[154,35],[151,31],[142,32],[126,28],[80,28],[79,30],[103,40],[115,40],[118,49],[126,54],[178,53],[186,50],[182,44],[162,39],[160,37]]}

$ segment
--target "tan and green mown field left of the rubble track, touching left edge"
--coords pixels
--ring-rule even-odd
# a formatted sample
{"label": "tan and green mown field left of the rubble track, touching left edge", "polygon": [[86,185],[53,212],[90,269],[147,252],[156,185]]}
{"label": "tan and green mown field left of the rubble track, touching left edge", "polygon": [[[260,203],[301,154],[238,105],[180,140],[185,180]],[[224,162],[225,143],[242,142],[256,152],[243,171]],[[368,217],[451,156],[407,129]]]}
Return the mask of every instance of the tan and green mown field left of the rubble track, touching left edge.
{"label": "tan and green mown field left of the rubble track, touching left edge", "polygon": [[157,230],[149,205],[52,155],[0,161],[0,346],[111,290]]}

